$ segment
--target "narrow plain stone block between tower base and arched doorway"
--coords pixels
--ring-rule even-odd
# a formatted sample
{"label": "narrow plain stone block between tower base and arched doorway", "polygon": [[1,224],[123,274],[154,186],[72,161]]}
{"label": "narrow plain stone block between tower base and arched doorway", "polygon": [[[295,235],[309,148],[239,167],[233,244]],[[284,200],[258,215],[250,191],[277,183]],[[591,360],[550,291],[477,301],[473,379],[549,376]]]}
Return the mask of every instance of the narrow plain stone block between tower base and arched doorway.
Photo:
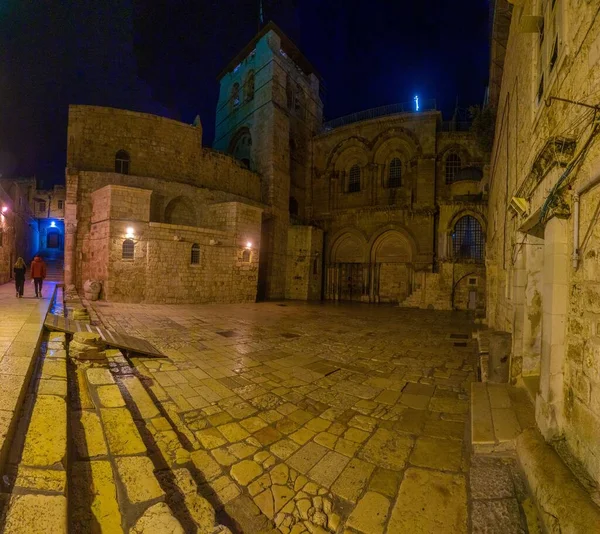
{"label": "narrow plain stone block between tower base and arched doorway", "polygon": [[323,276],[323,231],[313,226],[290,226],[285,298],[319,300]]}

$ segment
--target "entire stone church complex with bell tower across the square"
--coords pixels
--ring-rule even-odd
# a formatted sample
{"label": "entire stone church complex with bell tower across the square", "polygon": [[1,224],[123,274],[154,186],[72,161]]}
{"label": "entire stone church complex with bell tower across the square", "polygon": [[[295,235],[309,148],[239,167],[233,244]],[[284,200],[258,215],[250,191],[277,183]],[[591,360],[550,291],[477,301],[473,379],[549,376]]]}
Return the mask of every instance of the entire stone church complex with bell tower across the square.
{"label": "entire stone church complex with bell tower across the square", "polygon": [[125,302],[484,308],[472,133],[433,106],[324,124],[319,75],[274,24],[219,81],[214,150],[199,121],[70,108],[67,283]]}

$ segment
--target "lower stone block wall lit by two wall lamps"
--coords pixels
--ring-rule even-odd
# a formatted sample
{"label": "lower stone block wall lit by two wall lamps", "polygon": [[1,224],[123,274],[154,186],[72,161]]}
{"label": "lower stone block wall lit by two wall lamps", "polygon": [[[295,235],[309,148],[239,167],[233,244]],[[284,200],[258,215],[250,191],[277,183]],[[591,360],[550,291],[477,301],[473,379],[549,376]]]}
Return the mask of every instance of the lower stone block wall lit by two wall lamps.
{"label": "lower stone block wall lit by two wall lamps", "polygon": [[[261,210],[237,202],[210,206],[222,230],[155,223],[148,221],[151,194],[112,185],[92,193],[82,279],[100,280],[101,298],[116,302],[254,302]],[[126,240],[133,258],[123,257]]]}

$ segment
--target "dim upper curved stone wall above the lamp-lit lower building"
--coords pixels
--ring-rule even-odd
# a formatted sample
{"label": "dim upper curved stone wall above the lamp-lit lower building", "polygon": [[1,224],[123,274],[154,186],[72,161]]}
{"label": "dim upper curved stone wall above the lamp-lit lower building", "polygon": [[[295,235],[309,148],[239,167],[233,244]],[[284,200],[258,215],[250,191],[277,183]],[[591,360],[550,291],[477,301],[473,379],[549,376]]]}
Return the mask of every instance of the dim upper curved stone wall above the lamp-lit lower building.
{"label": "dim upper curved stone wall above the lamp-lit lower building", "polygon": [[67,167],[115,171],[126,150],[129,174],[187,183],[260,200],[260,178],[225,154],[202,148],[202,128],[146,113],[70,106]]}

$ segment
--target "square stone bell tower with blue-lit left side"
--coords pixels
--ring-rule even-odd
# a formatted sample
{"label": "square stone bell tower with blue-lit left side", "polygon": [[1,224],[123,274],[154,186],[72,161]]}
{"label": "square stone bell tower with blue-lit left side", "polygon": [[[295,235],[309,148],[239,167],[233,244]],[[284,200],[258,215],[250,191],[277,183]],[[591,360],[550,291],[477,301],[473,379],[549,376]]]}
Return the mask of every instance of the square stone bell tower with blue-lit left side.
{"label": "square stone bell tower with blue-lit left side", "polygon": [[285,296],[290,221],[311,215],[311,139],[323,115],[319,78],[268,23],[219,75],[213,147],[262,176],[259,299]]}

